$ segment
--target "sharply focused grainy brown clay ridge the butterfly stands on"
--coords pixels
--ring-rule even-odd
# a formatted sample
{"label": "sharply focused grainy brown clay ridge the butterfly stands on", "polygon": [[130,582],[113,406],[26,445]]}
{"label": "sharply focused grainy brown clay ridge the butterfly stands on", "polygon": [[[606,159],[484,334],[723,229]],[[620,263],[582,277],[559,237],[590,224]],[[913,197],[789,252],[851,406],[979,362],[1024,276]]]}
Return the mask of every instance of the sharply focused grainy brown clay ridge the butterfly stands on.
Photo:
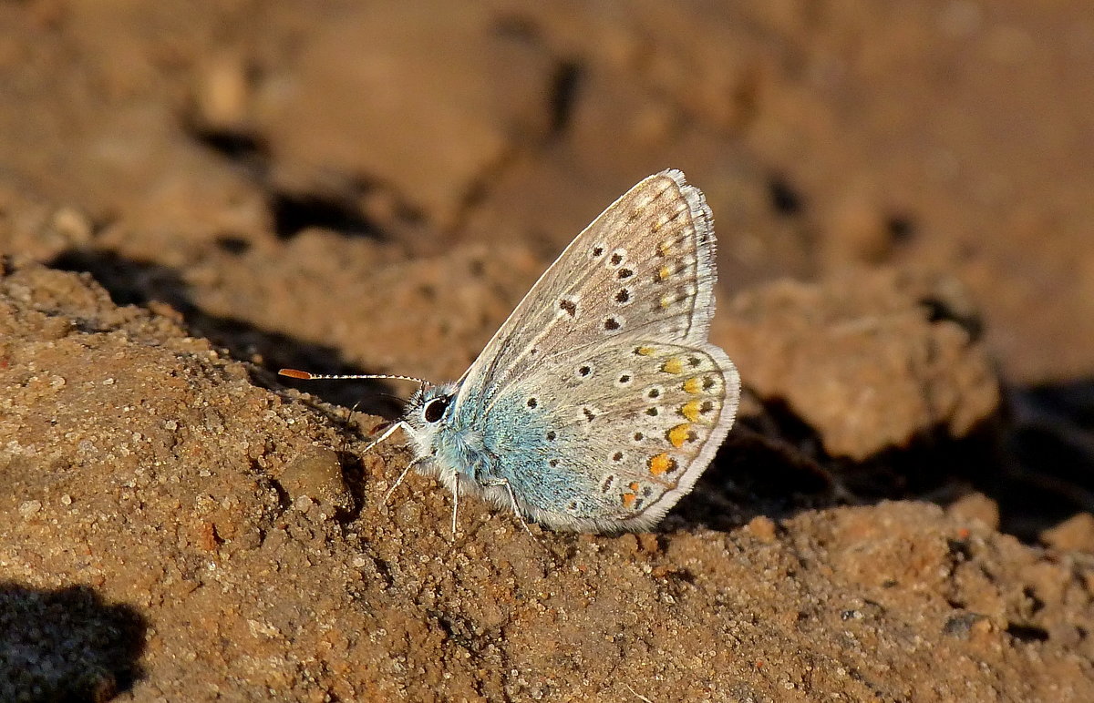
{"label": "sharply focused grainy brown clay ridge the butterfly stands on", "polygon": [[[734,304],[777,318],[790,294],[771,296]],[[1092,559],[982,511],[715,531],[685,502],[659,534],[534,539],[470,502],[451,537],[432,480],[382,503],[405,450],[359,456],[345,410],[86,276],[9,262],[0,332],[4,700],[1094,695]]]}

